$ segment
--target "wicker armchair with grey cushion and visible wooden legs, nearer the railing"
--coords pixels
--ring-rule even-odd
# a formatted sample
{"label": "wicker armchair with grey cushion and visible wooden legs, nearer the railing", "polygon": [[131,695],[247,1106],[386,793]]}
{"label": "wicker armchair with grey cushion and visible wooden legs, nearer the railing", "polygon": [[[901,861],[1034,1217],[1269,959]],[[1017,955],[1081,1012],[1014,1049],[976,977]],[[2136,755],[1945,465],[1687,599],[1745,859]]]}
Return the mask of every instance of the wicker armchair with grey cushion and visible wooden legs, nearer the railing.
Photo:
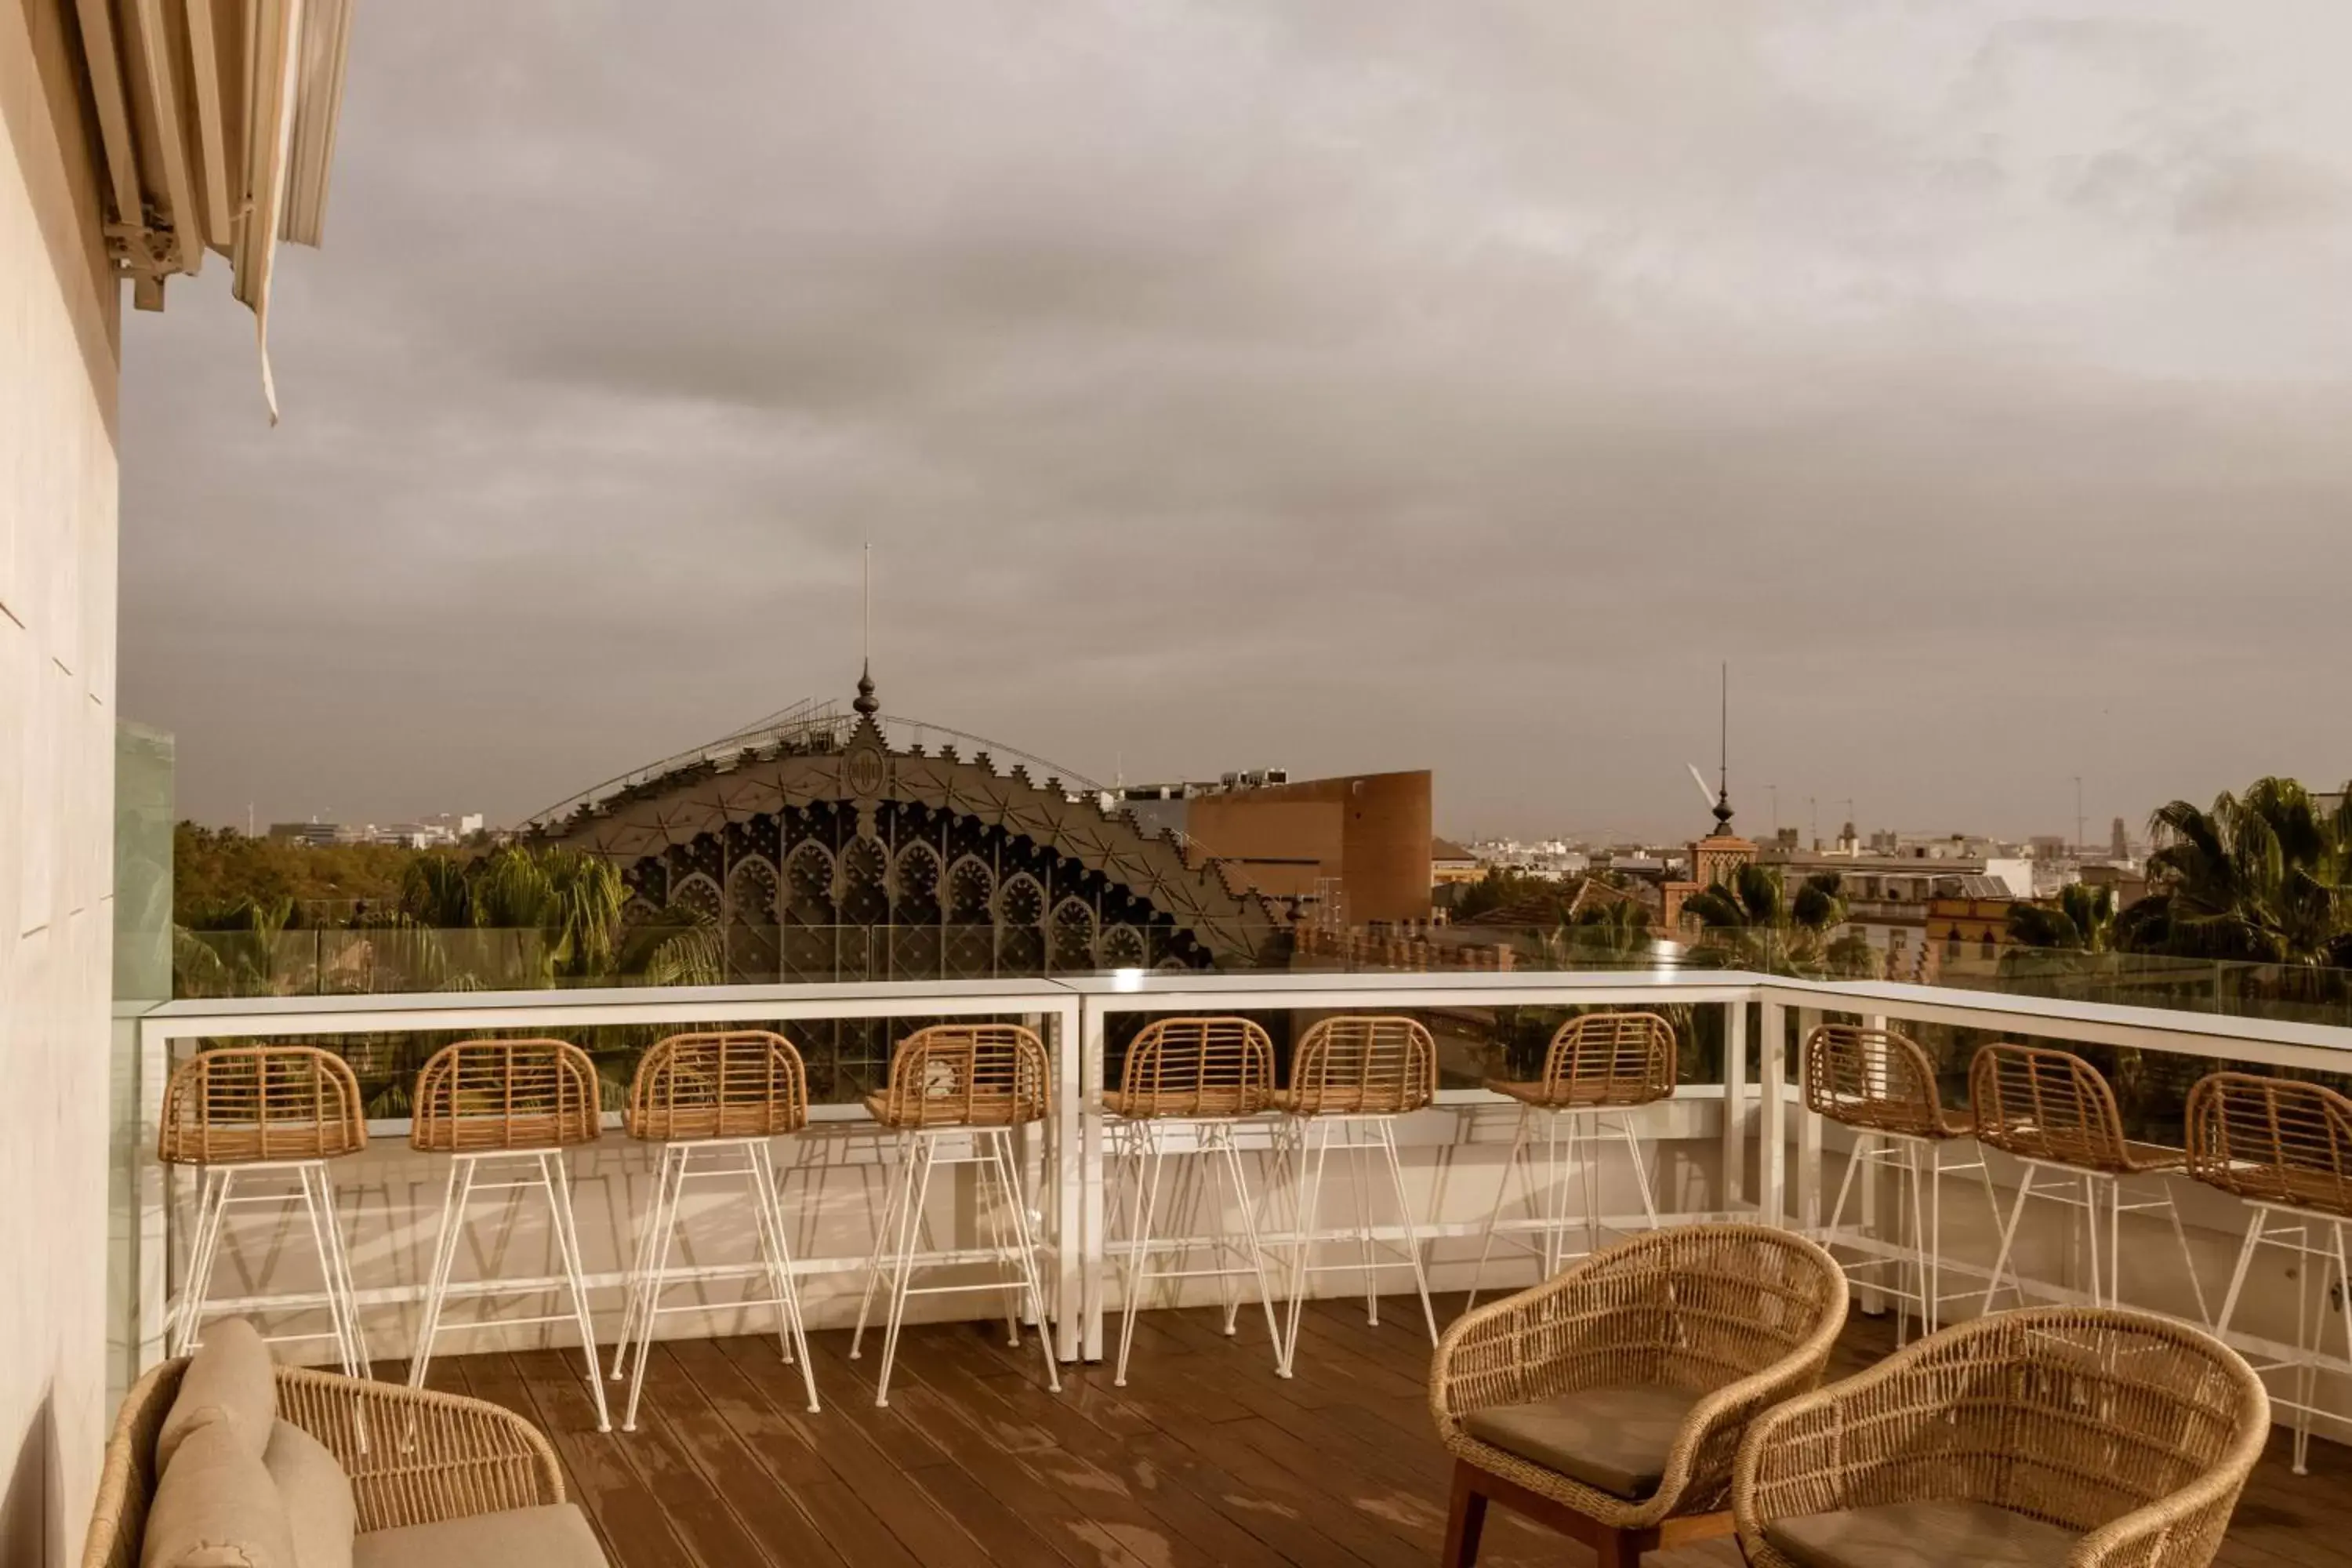
{"label": "wicker armchair with grey cushion and visible wooden legs, nearer the railing", "polygon": [[1454,1453],[1446,1568],[1477,1561],[1489,1500],[1604,1568],[1729,1535],[1740,1434],[1820,1380],[1844,1321],[1837,1260],[1764,1225],[1635,1237],[1465,1314],[1430,1368]]}

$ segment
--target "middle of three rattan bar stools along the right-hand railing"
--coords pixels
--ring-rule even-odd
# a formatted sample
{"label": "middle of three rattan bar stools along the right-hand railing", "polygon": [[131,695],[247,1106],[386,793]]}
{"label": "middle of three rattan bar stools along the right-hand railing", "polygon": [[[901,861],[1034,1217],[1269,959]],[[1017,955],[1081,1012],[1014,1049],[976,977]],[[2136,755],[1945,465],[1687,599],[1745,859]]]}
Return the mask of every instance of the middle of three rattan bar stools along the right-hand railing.
{"label": "middle of three rattan bar stools along the right-hand railing", "polygon": [[[1994,1041],[1969,1063],[1969,1105],[1976,1112],[1976,1140],[2013,1154],[2025,1164],[2018,1197],[2002,1222],[2002,1251],[1992,1260],[1992,1284],[1985,1286],[1985,1312],[2009,1288],[2025,1302],[2025,1281],[2009,1267],[2018,1244],[2018,1220],[2025,1199],[2044,1199],[2074,1208],[2084,1218],[2091,1258],[2091,1305],[2117,1307],[2122,1274],[2122,1222],[2126,1213],[2161,1208],[2180,1244],[2180,1267],[2197,1295],[2197,1321],[2211,1324],[2197,1258],[2190,1253],[2180,1211],[2173,1206],[2166,1173],[2187,1168],[2187,1150],[2124,1138],[2124,1117],[2114,1110],[2114,1091],[2091,1063],[2072,1051],[2046,1051]],[[2074,1185],[2082,1197],[2065,1192]],[[2100,1269],[2100,1213],[2105,1213],[2105,1272]]]}

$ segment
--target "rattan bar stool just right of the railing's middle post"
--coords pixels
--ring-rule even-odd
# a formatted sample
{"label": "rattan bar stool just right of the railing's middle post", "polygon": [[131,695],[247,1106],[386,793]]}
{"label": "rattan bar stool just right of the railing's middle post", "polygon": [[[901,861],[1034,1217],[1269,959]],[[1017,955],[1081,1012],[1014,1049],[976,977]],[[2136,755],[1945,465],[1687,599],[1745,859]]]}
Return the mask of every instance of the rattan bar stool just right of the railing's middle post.
{"label": "rattan bar stool just right of the railing's middle post", "polygon": [[[1275,1347],[1275,1371],[1291,1375],[1282,1359],[1275,1295],[1265,1284],[1265,1248],[1249,1197],[1249,1175],[1232,1143],[1235,1128],[1263,1117],[1275,1103],[1275,1041],[1247,1018],[1155,1018],[1127,1046],[1120,1088],[1103,1095],[1110,1152],[1129,1180],[1127,1246],[1122,1251],[1124,1321],[1120,1366],[1112,1382],[1127,1387],[1127,1356],[1136,1342],[1136,1309],[1155,1281],[1209,1279],[1223,1288],[1225,1333],[1235,1333],[1249,1276],[1265,1309],[1265,1338]],[[1162,1215],[1160,1192],[1169,1161],[1178,1161],[1169,1213],[1176,1237],[1155,1239]],[[1207,1173],[1202,1173],[1207,1166]],[[1240,1213],[1242,1234],[1232,1234]],[[1211,1225],[1211,1234],[1202,1227]],[[1209,1248],[1209,1267],[1181,1267]],[[1155,1267],[1155,1251],[1174,1251],[1178,1267]]]}

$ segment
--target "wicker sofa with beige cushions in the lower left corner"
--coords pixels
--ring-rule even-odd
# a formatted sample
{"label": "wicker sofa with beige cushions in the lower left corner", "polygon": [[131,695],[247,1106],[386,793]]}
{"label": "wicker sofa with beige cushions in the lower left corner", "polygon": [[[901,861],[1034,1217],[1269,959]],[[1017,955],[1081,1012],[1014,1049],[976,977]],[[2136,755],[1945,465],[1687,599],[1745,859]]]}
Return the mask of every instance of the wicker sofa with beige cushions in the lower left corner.
{"label": "wicker sofa with beige cushions in the lower left corner", "polygon": [[82,1568],[607,1568],[555,1450],[480,1399],[273,1366],[245,1319],[129,1392]]}

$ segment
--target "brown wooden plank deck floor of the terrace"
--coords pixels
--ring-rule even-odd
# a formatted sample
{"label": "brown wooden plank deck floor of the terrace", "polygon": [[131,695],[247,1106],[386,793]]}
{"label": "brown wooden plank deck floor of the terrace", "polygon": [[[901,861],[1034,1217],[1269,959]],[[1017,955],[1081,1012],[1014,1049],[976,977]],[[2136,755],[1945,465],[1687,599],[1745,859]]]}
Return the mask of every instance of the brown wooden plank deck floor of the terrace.
{"label": "brown wooden plank deck floor of the terrace", "polygon": [[[597,1434],[576,1359],[555,1352],[449,1356],[433,1385],[539,1422],[616,1568],[1428,1568],[1449,1460],[1411,1307],[1388,1300],[1367,1328],[1359,1305],[1317,1305],[1289,1382],[1247,1316],[1225,1340],[1211,1312],[1152,1312],[1129,1387],[1108,1366],[1073,1368],[1061,1396],[1035,1342],[1016,1354],[1002,1326],[978,1324],[908,1328],[889,1410],[873,1408],[873,1354],[849,1361],[847,1333],[814,1335],[821,1415],[774,1338],[656,1347],[633,1434]],[[1439,1302],[1439,1324],[1458,1307]],[[1882,1324],[1856,1319],[1835,1371],[1886,1345]],[[1479,1561],[1590,1556],[1496,1509]],[[1731,1542],[1649,1559],[1738,1561]],[[2314,1443],[2298,1479],[2277,1441],[2220,1561],[2352,1568],[2352,1450]]]}

